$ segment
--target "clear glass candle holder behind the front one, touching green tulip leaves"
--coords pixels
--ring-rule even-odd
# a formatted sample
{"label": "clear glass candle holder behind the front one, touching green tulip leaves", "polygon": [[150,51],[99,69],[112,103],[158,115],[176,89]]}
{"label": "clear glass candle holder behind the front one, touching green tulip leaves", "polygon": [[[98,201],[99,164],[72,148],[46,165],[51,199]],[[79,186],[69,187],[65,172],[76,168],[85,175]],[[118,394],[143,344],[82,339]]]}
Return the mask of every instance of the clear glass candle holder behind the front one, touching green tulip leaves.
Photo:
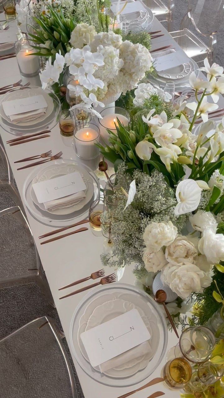
{"label": "clear glass candle holder behind the front one, touching green tulip leaves", "polygon": [[116,133],[116,126],[118,126],[118,120],[124,126],[128,126],[130,122],[130,115],[126,109],[120,108],[118,106],[110,106],[108,108],[104,108],[100,115],[102,119],[98,118],[99,126],[100,126],[100,140],[102,145],[109,145],[109,133],[107,129],[111,130],[113,133]]}

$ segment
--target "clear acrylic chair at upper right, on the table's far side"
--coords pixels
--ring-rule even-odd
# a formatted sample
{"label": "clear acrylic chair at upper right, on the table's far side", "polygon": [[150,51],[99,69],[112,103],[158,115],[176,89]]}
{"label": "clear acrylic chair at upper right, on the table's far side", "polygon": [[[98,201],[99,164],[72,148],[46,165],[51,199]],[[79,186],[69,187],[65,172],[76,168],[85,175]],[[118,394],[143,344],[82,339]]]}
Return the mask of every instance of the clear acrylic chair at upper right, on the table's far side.
{"label": "clear acrylic chair at upper right, on the table's far side", "polygon": [[217,32],[224,16],[224,0],[188,1],[188,12],[179,31],[171,32],[185,53],[200,63],[206,57],[210,63],[216,55]]}

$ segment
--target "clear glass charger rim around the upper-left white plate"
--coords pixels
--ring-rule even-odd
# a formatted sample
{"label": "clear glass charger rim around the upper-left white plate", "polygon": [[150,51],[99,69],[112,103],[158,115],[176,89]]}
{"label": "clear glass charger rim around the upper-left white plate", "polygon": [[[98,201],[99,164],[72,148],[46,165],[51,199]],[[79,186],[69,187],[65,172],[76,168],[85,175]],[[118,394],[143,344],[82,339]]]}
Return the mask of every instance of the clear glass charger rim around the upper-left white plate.
{"label": "clear glass charger rim around the upper-left white plate", "polygon": [[[50,97],[50,102],[51,102],[51,111],[49,112],[49,115],[47,117],[42,117],[40,121],[37,121],[37,119],[33,120],[33,124],[26,124],[26,125],[19,125],[16,123],[12,123],[8,120],[5,119],[4,115],[2,114],[2,102],[6,101],[8,99],[9,94],[12,94],[13,92],[18,92],[20,90],[12,89],[9,93],[4,94],[1,99],[0,99],[0,109],[1,109],[1,114],[0,114],[0,126],[6,130],[8,133],[11,133],[13,135],[25,135],[26,133],[35,133],[43,130],[51,130],[55,125],[58,123],[58,118],[59,118],[59,112],[61,109],[61,103],[57,96],[54,94],[49,89],[42,90],[41,87],[38,86],[29,86],[27,89],[21,90],[21,92],[25,95],[27,92],[28,94],[32,93],[33,95],[37,94],[43,94],[45,97],[49,96]],[[10,98],[11,100],[12,98]],[[48,101],[47,101],[48,102]],[[30,123],[30,122],[29,122]]]}

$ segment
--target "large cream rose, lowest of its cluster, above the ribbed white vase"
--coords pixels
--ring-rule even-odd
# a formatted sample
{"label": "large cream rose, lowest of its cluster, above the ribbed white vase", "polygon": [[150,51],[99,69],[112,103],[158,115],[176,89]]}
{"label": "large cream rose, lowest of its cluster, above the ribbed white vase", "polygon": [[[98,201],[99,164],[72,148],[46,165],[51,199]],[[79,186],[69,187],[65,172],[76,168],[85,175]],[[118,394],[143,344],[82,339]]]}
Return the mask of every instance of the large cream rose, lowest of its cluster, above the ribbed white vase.
{"label": "large cream rose, lowest of its cluster, above the ribbed white vase", "polygon": [[[207,278],[207,280],[206,280]],[[195,264],[169,264],[161,271],[161,281],[167,284],[181,298],[187,298],[192,292],[202,291],[202,286],[209,286],[211,280]]]}

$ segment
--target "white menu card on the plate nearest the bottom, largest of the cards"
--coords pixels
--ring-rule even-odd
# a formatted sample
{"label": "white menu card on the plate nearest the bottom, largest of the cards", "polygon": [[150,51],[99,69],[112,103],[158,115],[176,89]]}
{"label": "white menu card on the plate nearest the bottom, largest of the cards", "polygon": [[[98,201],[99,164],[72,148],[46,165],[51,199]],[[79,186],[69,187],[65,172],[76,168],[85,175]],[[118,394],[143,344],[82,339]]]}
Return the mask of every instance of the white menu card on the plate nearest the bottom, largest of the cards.
{"label": "white menu card on the plate nearest the bottom, largest of the cards", "polygon": [[134,308],[80,335],[92,366],[98,366],[150,339]]}

